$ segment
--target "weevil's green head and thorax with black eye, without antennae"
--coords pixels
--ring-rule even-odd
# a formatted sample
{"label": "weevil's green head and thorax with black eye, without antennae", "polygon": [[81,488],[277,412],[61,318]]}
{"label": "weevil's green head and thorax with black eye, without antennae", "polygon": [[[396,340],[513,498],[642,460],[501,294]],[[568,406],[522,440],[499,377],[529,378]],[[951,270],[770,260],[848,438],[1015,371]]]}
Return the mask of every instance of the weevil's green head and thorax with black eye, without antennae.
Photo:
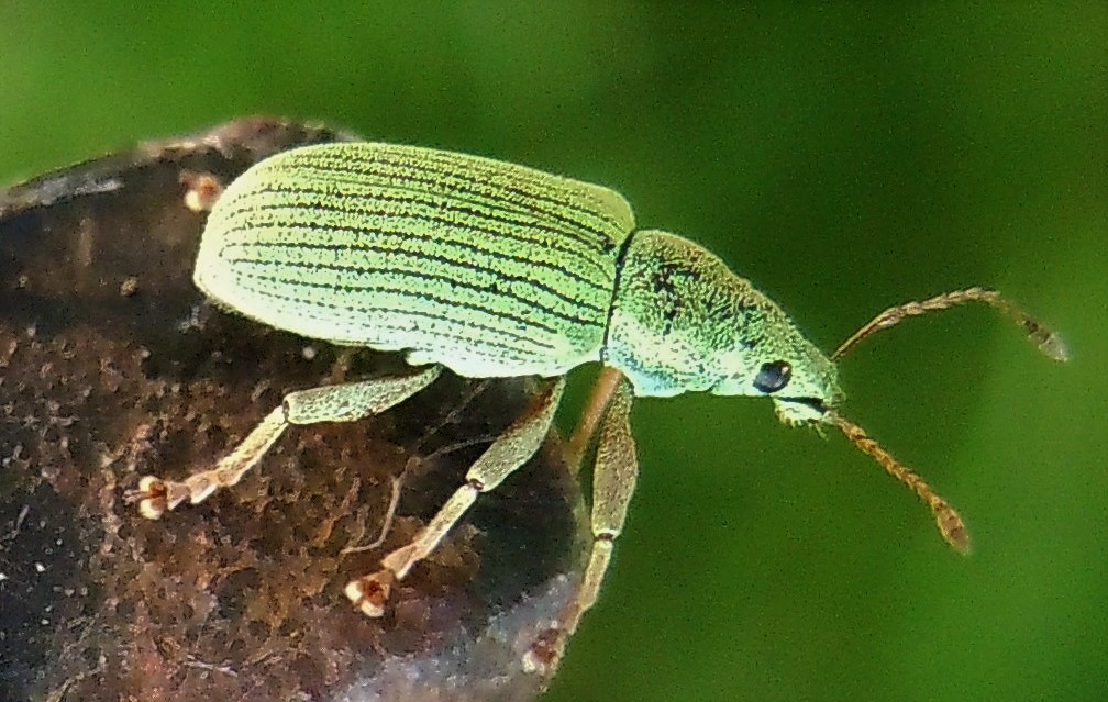
{"label": "weevil's green head and thorax with black eye, without antennae", "polygon": [[772,300],[681,237],[628,244],[605,359],[637,395],[768,396],[789,424],[825,421],[842,400],[831,361]]}

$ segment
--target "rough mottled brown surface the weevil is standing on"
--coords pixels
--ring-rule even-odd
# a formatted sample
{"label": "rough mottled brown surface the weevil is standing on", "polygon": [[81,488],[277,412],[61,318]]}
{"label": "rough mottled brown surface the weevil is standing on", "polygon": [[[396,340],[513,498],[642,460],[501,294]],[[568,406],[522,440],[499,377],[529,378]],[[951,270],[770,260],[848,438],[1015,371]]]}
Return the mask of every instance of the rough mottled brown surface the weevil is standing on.
{"label": "rough mottled brown surface the weevil is standing on", "polygon": [[[189,188],[195,202],[268,154],[341,137],[244,121],[0,193],[0,699],[541,689],[519,660],[583,547],[556,443],[482,496],[384,618],[342,596],[456,487],[526,404],[524,381],[451,375],[380,417],[293,427],[237,487],[161,522],[122,500],[142,474],[209,466],[287,390],[400,362],[223,313],[189,280],[204,219]],[[345,554],[376,538],[401,475],[384,545]]]}

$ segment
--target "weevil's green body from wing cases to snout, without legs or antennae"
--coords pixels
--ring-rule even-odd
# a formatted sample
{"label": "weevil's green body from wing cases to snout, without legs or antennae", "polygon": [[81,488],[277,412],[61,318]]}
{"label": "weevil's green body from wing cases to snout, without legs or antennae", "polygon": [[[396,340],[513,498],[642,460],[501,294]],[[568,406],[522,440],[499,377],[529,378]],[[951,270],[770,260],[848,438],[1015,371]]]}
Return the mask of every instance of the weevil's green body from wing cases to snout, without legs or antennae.
{"label": "weevil's green body from wing cases to snout, without legs or antennae", "polygon": [[767,394],[763,363],[838,398],[834,368],[700,246],[635,231],[613,190],[478,156],[328,144],[274,156],[212,211],[196,285],[277,329],[471,378],[589,361],[635,394]]}

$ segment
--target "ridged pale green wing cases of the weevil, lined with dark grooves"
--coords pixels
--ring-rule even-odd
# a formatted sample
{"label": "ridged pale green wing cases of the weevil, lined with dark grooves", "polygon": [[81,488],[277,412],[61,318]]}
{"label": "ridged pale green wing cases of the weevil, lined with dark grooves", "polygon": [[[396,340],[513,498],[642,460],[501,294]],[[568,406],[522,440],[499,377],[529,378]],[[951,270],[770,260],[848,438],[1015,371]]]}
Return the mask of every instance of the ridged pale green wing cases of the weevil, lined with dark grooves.
{"label": "ridged pale green wing cases of the weevil, lined with dark grooves", "polygon": [[619,242],[611,190],[428,148],[329,144],[261,162],[216,204],[195,281],[306,337],[471,376],[597,358]]}

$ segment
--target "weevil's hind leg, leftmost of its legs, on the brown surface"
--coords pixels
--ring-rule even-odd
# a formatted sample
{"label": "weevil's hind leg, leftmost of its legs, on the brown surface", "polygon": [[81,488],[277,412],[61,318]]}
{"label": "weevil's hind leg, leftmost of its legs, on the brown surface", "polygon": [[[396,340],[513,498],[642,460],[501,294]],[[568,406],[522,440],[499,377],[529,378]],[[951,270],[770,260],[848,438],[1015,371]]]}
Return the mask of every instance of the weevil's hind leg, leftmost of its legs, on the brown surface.
{"label": "weevil's hind leg, leftmost of its legs, on the brown surface", "polygon": [[432,365],[402,375],[291,392],[214,468],[194,473],[181,483],[145,475],[126,499],[138,502],[138,510],[148,519],[160,518],[185,499],[194,505],[204,502],[220,487],[243,479],[289,424],[353,422],[379,414],[427,388],[441,372],[441,367]]}

